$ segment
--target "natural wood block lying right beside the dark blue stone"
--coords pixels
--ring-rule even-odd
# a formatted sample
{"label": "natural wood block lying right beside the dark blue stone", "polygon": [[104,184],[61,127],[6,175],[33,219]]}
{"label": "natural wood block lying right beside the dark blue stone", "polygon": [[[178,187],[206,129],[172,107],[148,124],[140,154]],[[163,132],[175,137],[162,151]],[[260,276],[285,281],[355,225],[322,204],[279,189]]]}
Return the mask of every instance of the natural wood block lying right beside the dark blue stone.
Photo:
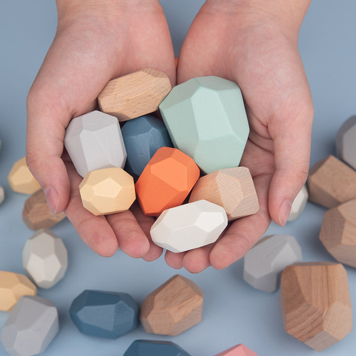
{"label": "natural wood block lying right beside the dark blue stone", "polygon": [[200,323],[203,295],[191,280],[173,276],[143,301],[139,318],[145,331],[175,336]]}

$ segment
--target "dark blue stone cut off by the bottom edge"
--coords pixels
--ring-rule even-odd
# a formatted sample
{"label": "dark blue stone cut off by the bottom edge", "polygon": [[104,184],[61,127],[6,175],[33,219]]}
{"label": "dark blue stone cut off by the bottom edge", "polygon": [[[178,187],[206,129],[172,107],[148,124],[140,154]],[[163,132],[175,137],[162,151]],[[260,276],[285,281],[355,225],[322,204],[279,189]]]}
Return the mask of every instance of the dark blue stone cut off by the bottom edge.
{"label": "dark blue stone cut off by the bottom edge", "polygon": [[136,340],[124,356],[189,356],[178,345],[170,341]]}

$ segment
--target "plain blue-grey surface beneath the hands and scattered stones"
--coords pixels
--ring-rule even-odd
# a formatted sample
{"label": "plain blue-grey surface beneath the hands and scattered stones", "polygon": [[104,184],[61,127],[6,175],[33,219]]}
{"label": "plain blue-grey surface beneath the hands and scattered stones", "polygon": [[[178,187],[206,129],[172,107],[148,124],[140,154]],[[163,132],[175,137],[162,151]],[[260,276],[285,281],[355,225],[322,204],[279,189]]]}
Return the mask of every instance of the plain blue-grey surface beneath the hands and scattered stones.
{"label": "plain blue-grey surface beneath the hands and scattered stones", "polygon": [[[178,54],[191,20],[203,0],[162,0]],[[299,48],[312,89],[315,120],[311,164],[334,153],[334,137],[344,120],[356,113],[356,2],[314,0],[300,31]],[[23,273],[21,253],[32,235],[21,220],[26,196],[12,192],[7,175],[25,154],[26,95],[43,61],[56,27],[54,0],[16,0],[0,3],[0,184],[6,200],[0,206],[0,270]],[[304,261],[332,261],[318,240],[325,209],[308,203],[302,216],[284,228],[272,224],[268,233],[295,235]],[[176,337],[145,334],[142,327],[118,340],[82,335],[68,309],[84,289],[130,293],[141,303],[147,294],[177,271],[163,257],[153,263],[134,260],[118,251],[109,259],[82,243],[68,221],[52,228],[69,251],[64,279],[39,295],[52,300],[60,318],[60,332],[43,355],[123,355],[135,339],[172,340],[192,356],[213,356],[244,343],[259,356],[316,355],[286,334],[278,292],[254,290],[242,280],[242,262],[217,271],[212,268],[191,278],[205,292],[203,321]],[[356,310],[356,269],[346,267]],[[0,329],[7,313],[0,312]],[[354,319],[356,312],[353,313]],[[356,354],[356,329],[322,355]],[[0,344],[0,355],[6,355]]]}

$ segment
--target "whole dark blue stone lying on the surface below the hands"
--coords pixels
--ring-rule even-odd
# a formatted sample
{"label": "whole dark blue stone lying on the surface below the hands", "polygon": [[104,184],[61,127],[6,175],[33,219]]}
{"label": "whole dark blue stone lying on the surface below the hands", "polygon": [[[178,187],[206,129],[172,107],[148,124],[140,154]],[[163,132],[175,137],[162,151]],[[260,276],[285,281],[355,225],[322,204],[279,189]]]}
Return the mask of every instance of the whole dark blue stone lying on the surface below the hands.
{"label": "whole dark blue stone lying on the surface below the hands", "polygon": [[137,327],[138,309],[127,293],[86,290],[74,299],[69,312],[83,334],[117,339]]}

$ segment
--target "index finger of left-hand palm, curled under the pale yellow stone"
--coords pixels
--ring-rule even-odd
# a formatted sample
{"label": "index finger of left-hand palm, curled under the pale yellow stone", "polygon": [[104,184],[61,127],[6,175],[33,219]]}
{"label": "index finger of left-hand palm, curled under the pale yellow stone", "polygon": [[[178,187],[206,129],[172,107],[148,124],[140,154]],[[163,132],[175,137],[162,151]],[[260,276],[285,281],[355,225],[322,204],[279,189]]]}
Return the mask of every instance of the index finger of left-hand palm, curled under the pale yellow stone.
{"label": "index finger of left-hand palm, curled under the pale yellow stone", "polygon": [[82,177],[79,176],[71,162],[66,162],[71,182],[70,200],[65,209],[66,216],[77,230],[82,240],[97,254],[112,256],[118,241],[113,229],[104,216],[95,216],[83,207],[79,192]]}

